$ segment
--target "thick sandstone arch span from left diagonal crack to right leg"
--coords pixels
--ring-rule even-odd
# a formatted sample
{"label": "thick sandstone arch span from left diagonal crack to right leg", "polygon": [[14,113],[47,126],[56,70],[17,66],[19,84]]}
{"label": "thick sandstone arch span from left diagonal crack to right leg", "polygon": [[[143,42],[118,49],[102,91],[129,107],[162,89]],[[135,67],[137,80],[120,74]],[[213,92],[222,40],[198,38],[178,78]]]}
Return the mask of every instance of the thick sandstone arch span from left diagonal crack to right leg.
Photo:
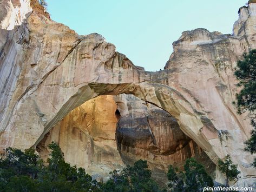
{"label": "thick sandstone arch span from left diagonal crack to right leg", "polygon": [[[34,57],[35,52],[31,54]],[[46,57],[41,62],[51,59]],[[220,146],[217,131],[207,116],[193,108],[179,91],[165,85],[169,70],[150,73],[135,67],[98,34],[79,37],[67,55],[57,61],[60,62],[45,65],[46,70],[36,84],[25,88],[18,98],[12,108],[15,115],[8,120],[1,135],[1,148],[35,146],[58,121],[82,103],[99,95],[124,93],[169,112],[178,120],[181,130],[204,149],[213,162],[225,154],[209,143],[211,139]],[[24,71],[34,68],[36,70],[37,65]]]}

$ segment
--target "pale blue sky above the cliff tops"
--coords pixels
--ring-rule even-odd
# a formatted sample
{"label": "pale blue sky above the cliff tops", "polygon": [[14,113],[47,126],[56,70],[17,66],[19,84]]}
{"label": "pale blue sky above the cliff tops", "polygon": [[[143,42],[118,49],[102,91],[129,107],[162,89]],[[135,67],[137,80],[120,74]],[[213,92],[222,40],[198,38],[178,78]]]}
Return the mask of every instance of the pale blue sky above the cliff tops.
{"label": "pale blue sky above the cliff tops", "polygon": [[101,34],[135,65],[163,69],[182,31],[232,34],[245,0],[46,0],[51,18],[80,35]]}

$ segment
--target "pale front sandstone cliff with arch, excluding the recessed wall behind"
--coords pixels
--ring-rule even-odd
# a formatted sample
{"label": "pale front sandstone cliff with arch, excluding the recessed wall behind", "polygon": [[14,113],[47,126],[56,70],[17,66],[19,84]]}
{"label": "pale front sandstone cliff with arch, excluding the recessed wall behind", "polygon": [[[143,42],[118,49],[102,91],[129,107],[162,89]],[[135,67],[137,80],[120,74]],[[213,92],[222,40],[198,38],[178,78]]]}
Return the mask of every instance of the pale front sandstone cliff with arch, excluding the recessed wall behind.
{"label": "pale front sandstone cliff with arch, excluding the recessed wall behind", "polygon": [[[230,154],[241,180],[255,178],[253,156],[244,151],[252,127],[232,105],[239,91],[233,75],[236,62],[256,46],[254,1],[240,8],[233,35],[206,29],[183,32],[159,72],[135,67],[99,34],[80,36],[51,21],[36,0],[30,5],[6,2],[15,2],[15,10],[23,6],[33,11],[13,29],[1,28],[1,149],[36,147],[62,118],[91,98],[133,94],[169,112],[214,163]],[[6,13],[1,21],[14,10],[8,6],[0,4]]]}

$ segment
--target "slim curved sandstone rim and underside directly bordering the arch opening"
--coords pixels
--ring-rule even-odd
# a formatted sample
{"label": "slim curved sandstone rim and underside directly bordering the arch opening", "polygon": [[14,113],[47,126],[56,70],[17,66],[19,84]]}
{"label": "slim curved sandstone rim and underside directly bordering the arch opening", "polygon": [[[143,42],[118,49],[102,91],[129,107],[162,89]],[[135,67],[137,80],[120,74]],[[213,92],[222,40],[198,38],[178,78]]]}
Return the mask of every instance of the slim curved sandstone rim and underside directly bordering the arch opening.
{"label": "slim curved sandstone rim and underside directly bordering the arch opening", "polygon": [[[68,112],[78,107],[82,103],[90,100],[99,95],[120,95],[120,94],[133,94],[141,100],[156,105],[163,110],[166,110],[170,115],[174,116],[180,125],[181,130],[198,143],[198,145],[206,151],[211,159],[216,163],[218,156],[212,150],[211,145],[208,143],[204,135],[198,135],[194,131],[200,131],[202,128],[212,129],[204,125],[203,117],[195,116],[195,112],[191,104],[182,97],[182,95],[173,88],[166,85],[155,83],[125,83],[125,84],[102,84],[102,83],[89,83],[81,87],[75,95],[65,103],[52,118],[52,120],[45,125],[42,135],[35,142],[35,145],[41,141],[45,134],[54,127]],[[193,129],[192,129],[193,128]],[[210,130],[216,134],[216,130]]]}

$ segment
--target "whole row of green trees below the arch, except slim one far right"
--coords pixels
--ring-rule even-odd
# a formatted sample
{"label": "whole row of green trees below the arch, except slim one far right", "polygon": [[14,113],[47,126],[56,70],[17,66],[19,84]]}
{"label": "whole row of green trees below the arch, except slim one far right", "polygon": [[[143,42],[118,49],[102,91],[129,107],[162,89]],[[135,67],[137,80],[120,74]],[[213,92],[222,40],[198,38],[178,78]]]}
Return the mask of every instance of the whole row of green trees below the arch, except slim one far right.
{"label": "whole row of green trees below the arch, except slim one far right", "polygon": [[[65,162],[63,153],[56,143],[49,145],[51,153],[47,164],[34,149],[24,152],[7,148],[0,158],[0,191],[167,191],[159,186],[148,169],[147,161],[139,160],[133,166],[113,170],[107,182],[97,182],[83,168]],[[168,180],[170,191],[200,191],[213,186],[212,178],[204,166],[189,158],[185,172],[178,173],[170,165]]]}

